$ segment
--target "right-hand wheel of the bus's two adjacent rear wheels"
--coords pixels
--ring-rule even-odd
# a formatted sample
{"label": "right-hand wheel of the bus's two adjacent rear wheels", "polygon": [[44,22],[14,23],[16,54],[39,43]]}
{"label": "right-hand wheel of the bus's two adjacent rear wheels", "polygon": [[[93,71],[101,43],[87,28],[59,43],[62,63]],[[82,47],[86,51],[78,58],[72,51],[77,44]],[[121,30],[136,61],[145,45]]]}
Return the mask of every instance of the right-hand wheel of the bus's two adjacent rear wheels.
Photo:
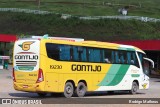
{"label": "right-hand wheel of the bus's two adjacent rear wheels", "polygon": [[76,88],[76,94],[78,97],[84,97],[87,91],[87,86],[83,82],[79,82]]}

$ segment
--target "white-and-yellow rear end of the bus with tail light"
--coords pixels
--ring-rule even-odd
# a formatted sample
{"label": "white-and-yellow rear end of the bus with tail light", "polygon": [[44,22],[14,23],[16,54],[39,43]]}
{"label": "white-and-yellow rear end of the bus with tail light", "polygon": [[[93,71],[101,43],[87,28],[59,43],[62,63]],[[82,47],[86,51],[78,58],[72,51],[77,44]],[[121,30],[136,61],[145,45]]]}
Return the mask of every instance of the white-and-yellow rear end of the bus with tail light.
{"label": "white-and-yellow rear end of the bus with tail light", "polygon": [[[40,41],[18,40],[13,53],[14,89],[19,91],[43,91],[43,71],[39,68]],[[41,83],[41,84],[40,84]]]}

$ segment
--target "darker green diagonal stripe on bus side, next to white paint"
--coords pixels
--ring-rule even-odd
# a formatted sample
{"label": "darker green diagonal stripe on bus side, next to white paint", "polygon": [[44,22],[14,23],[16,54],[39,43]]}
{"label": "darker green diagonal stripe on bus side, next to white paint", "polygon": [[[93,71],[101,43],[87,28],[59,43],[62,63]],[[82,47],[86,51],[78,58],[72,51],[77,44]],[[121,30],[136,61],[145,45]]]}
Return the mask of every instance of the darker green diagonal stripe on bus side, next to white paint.
{"label": "darker green diagonal stripe on bus side, next to white paint", "polygon": [[114,79],[110,82],[110,84],[108,84],[108,86],[115,86],[119,84],[124,78],[124,76],[126,75],[128,68],[129,68],[129,65],[122,65],[118,70],[117,74],[115,74]]}

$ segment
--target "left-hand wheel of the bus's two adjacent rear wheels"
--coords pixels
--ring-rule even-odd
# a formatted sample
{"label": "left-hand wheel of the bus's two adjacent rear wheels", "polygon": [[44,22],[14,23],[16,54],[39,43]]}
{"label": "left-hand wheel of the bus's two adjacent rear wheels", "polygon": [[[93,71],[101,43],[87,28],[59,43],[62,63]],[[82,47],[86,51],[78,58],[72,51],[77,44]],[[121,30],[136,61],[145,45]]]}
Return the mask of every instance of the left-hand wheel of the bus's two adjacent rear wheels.
{"label": "left-hand wheel of the bus's two adjacent rear wheels", "polygon": [[67,82],[64,87],[64,96],[70,98],[73,96],[74,88],[71,82]]}

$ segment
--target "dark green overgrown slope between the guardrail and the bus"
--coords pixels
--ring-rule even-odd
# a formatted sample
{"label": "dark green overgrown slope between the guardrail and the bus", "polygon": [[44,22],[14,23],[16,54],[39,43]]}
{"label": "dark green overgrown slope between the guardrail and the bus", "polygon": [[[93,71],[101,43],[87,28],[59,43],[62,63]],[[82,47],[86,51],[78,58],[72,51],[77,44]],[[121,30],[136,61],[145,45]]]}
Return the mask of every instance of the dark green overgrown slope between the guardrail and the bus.
{"label": "dark green overgrown slope between the guardrail and the bus", "polygon": [[160,22],[137,20],[62,19],[61,15],[34,15],[0,12],[0,32],[17,35],[78,37],[87,40],[117,41],[160,38]]}

